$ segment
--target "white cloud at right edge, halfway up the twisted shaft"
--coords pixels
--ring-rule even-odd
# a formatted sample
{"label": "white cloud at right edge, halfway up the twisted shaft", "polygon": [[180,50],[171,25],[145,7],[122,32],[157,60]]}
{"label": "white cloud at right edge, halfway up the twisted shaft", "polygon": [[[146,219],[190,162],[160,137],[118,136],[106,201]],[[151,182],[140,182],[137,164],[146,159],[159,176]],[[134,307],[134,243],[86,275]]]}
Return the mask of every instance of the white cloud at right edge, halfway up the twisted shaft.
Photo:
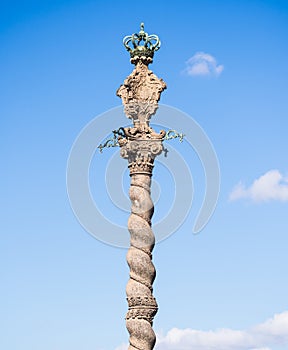
{"label": "white cloud at right edge, halfway up the twisted shaft", "polygon": [[288,178],[285,178],[279,170],[270,170],[256,179],[250,187],[245,187],[241,182],[232,190],[229,199],[231,201],[249,198],[254,202],[266,202],[270,200],[288,201]]}

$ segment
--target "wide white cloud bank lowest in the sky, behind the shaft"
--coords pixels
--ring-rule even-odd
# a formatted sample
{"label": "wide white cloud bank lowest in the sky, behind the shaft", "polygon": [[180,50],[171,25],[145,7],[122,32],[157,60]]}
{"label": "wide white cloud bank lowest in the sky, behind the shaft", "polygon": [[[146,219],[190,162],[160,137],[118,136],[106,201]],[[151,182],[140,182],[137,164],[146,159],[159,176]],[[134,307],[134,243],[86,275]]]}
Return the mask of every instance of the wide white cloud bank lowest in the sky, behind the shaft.
{"label": "wide white cloud bank lowest in the sky, behind the shaft", "polygon": [[[217,329],[201,331],[173,328],[157,334],[155,350],[272,350],[288,346],[288,311],[248,330]],[[128,344],[116,350],[127,349]]]}

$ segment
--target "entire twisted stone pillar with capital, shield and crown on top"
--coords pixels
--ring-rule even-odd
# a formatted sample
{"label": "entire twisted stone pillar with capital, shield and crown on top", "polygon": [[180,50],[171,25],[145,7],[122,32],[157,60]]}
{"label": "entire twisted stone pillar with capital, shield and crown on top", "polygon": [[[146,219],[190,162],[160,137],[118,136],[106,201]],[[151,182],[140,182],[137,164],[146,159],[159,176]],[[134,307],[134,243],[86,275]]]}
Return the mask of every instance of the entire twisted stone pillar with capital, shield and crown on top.
{"label": "entire twisted stone pillar with capital, shield and crown on top", "polygon": [[[140,45],[141,41],[143,45]],[[132,48],[128,45],[130,42]],[[156,341],[152,325],[158,306],[152,294],[156,271],[152,263],[155,237],[151,229],[154,206],[150,187],[154,160],[163,150],[166,133],[163,130],[155,132],[149,122],[157,111],[166,84],[148,69],[154,51],[160,47],[157,36],[149,36],[141,24],[139,34],[124,38],[124,45],[130,52],[131,63],[135,64],[133,72],[117,90],[127,117],[133,121],[132,127],[122,128],[123,134],[118,138],[121,156],[128,159],[131,176],[126,326],[130,334],[129,350],[152,350]]]}

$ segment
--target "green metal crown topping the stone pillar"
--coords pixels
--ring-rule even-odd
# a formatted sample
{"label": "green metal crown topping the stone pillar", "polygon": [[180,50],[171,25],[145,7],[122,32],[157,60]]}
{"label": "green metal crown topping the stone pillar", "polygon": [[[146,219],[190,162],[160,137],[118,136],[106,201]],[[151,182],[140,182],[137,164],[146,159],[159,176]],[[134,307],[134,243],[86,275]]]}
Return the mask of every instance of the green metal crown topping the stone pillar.
{"label": "green metal crown topping the stone pillar", "polygon": [[148,65],[153,62],[154,51],[160,49],[161,42],[157,35],[149,35],[144,31],[144,23],[142,22],[139,33],[125,36],[123,44],[130,53],[131,63],[137,64],[142,61]]}

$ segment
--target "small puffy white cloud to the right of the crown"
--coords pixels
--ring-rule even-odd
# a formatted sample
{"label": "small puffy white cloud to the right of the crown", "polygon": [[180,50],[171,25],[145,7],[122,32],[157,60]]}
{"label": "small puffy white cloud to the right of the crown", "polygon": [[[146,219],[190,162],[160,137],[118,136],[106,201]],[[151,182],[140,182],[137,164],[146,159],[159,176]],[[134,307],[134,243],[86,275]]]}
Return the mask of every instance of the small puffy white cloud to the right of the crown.
{"label": "small puffy white cloud to the right of the crown", "polygon": [[188,75],[219,76],[224,69],[216,59],[208,53],[197,52],[186,62],[185,73]]}

